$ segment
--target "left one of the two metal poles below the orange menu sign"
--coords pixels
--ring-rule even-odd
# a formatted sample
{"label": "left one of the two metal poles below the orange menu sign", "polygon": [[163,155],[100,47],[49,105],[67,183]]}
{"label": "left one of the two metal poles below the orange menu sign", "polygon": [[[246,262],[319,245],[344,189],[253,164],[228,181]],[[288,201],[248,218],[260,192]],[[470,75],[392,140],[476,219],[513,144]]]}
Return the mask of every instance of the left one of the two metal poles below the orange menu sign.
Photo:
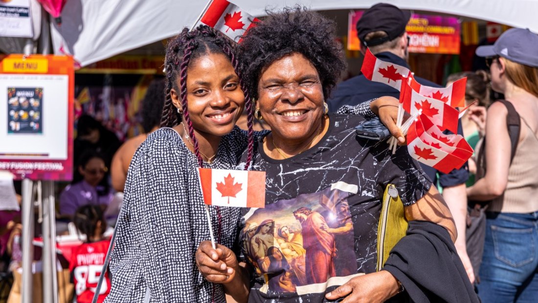
{"label": "left one of the two metal poles below the orange menu sign", "polygon": [[34,237],[34,206],[33,206],[33,182],[29,179],[23,180],[23,291],[22,303],[32,303],[32,262]]}

